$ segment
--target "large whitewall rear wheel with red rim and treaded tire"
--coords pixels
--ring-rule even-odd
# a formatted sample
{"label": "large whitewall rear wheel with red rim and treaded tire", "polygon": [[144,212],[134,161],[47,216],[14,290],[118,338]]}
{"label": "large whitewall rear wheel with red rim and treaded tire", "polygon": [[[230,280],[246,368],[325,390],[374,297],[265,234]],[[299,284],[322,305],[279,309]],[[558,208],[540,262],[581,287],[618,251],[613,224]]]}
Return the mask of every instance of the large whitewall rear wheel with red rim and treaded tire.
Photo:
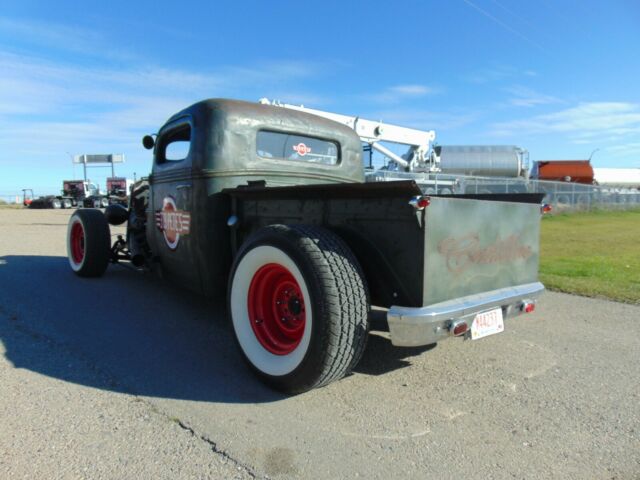
{"label": "large whitewall rear wheel with red rim and treaded tire", "polygon": [[300,393],[347,375],[367,341],[362,270],[333,233],[273,225],[242,246],[229,312],[240,349],[267,384]]}

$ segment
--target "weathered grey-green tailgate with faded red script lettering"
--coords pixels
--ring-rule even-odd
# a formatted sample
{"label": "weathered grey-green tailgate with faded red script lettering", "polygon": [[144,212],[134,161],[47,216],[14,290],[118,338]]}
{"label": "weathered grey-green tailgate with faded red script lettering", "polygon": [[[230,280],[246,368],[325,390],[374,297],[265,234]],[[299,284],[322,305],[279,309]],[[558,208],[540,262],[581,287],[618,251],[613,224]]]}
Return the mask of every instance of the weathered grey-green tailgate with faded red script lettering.
{"label": "weathered grey-green tailgate with faded red script lettering", "polygon": [[431,197],[424,218],[423,305],[538,280],[539,201]]}

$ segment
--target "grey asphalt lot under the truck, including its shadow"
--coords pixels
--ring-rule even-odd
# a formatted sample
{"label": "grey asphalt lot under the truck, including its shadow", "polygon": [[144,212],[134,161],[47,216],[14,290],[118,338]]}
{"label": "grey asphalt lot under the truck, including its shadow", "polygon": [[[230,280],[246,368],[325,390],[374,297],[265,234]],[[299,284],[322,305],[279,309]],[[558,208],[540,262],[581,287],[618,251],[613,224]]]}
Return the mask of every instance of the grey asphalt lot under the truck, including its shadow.
{"label": "grey asphalt lot under the truck, including its shadow", "polygon": [[0,210],[2,478],[640,478],[640,307],[547,293],[478,341],[393,348],[295,397],[224,305],[66,260],[68,211]]}

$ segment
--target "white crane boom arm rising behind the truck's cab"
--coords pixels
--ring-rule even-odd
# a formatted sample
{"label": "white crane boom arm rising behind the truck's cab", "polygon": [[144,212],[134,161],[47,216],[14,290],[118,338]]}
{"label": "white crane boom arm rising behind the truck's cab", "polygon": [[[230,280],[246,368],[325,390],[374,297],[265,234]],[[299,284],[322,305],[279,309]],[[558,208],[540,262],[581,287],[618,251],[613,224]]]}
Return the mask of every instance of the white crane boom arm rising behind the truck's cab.
{"label": "white crane boom arm rising behind the truck's cab", "polygon": [[[358,134],[363,143],[368,143],[371,145],[371,148],[389,157],[405,170],[428,172],[437,172],[440,170],[439,158],[431,149],[431,144],[436,138],[436,132],[433,130],[417,130],[414,128],[400,127],[375,120],[307,108],[303,105],[281,103],[277,100],[269,100],[268,98],[261,98],[259,101],[265,105],[274,105],[290,110],[307,112],[346,125]],[[409,150],[400,156],[381,145],[380,142],[407,145]]]}

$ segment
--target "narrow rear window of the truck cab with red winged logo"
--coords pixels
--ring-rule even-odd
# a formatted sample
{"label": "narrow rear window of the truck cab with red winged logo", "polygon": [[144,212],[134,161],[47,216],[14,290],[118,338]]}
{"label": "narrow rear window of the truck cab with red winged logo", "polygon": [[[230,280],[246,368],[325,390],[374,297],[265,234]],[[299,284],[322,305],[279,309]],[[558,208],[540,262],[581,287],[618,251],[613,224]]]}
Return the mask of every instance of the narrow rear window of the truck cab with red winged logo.
{"label": "narrow rear window of the truck cab with red winged logo", "polygon": [[262,158],[336,165],[340,160],[337,142],[282,132],[260,131],[256,150]]}

